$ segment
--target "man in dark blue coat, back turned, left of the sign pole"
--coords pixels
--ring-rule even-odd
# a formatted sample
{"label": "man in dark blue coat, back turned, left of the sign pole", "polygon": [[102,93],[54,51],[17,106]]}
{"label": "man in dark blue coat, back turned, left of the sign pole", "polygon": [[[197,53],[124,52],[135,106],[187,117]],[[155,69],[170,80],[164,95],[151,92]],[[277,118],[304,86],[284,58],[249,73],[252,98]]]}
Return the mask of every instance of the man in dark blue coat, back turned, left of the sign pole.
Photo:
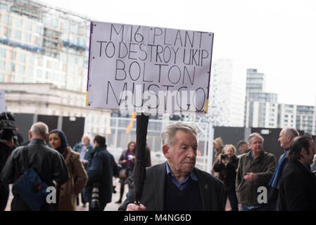
{"label": "man in dark blue coat, back turned, left of the sign pole", "polygon": [[[88,181],[84,190],[84,198],[89,201],[89,211],[103,211],[112,200],[113,176],[118,176],[118,165],[112,154],[106,150],[106,137],[94,137],[94,153],[87,168]],[[99,184],[99,209],[91,208],[91,191],[94,184]]]}

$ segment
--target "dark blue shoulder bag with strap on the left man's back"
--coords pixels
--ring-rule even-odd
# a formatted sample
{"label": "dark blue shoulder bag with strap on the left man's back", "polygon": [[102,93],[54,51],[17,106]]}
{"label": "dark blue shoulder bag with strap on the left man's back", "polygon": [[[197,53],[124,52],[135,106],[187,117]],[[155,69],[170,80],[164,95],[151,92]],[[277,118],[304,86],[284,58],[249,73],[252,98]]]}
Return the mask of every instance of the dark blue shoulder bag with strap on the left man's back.
{"label": "dark blue shoulder bag with strap on the left man's back", "polygon": [[38,211],[46,203],[46,188],[48,185],[42,181],[34,169],[29,168],[28,148],[23,148],[23,165],[25,172],[13,183],[13,190],[18,193],[32,211]]}

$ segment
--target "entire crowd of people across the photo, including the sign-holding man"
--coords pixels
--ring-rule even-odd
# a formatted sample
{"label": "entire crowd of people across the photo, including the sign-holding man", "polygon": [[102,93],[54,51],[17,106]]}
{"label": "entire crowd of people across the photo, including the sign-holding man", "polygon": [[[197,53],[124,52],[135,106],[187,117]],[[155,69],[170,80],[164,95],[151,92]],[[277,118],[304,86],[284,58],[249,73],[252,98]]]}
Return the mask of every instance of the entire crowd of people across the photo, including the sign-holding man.
{"label": "entire crowd of people across the photo, including the sign-holding man", "polygon": [[[312,173],[315,144],[291,127],[282,129],[276,140],[284,149],[278,162],[263,149],[260,134],[239,141],[238,156],[235,146],[224,145],[219,137],[213,141],[213,167],[205,172],[196,167],[196,126],[186,122],[168,124],[161,134],[166,162],[151,166],[146,146],[146,179],[140,205],[134,203],[134,141],[115,162],[101,134],[93,139],[84,134],[73,148],[62,130],[49,131],[43,122],[32,124],[25,145],[18,147],[14,135],[2,135],[0,141],[0,210],[6,208],[8,184],[13,184],[11,210],[31,210],[25,193],[15,188],[30,169],[56,190],[56,199],[46,201],[37,210],[74,211],[81,195],[89,211],[103,211],[115,191],[113,177],[120,179],[120,198],[115,202],[120,204],[119,210],[225,210],[227,198],[234,211],[316,210],[316,177]],[[125,184],[129,191],[123,201]],[[32,192],[40,188],[34,183]]]}

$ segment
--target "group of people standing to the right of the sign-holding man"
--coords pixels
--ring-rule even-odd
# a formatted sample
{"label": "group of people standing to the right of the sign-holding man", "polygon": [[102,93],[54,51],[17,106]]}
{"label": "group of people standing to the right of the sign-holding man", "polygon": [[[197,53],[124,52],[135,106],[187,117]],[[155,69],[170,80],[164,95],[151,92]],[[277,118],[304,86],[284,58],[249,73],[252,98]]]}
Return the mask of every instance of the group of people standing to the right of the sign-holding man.
{"label": "group of people standing to the right of the sign-holding man", "polygon": [[[225,200],[229,198],[231,210],[316,210],[316,155],[312,138],[299,136],[292,127],[282,129],[276,141],[284,153],[278,162],[263,149],[263,141],[258,133],[248,136],[248,143],[239,141],[238,156],[233,145],[224,145],[220,138],[213,141],[216,158],[211,172],[224,182]],[[262,190],[267,190],[266,198],[260,200]]]}

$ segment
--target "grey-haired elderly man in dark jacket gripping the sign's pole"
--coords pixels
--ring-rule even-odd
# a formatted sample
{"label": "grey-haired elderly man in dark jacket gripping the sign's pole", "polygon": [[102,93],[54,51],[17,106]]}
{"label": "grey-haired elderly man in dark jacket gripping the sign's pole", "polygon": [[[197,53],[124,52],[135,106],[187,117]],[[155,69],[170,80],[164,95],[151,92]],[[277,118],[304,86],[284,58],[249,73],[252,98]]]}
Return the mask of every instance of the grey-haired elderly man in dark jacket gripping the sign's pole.
{"label": "grey-haired elderly man in dark jacket gripping the sign's pole", "polygon": [[194,124],[169,124],[161,136],[167,162],[146,168],[141,204],[133,203],[132,185],[119,210],[225,210],[222,181],[195,167],[198,134]]}

